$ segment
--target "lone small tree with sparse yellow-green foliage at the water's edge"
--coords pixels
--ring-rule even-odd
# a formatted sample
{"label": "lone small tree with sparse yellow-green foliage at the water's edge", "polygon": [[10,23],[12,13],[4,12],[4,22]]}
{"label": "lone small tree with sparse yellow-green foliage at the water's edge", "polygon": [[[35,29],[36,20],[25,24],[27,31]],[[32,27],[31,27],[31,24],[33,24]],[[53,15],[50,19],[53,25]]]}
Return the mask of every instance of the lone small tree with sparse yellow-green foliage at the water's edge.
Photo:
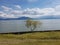
{"label": "lone small tree with sparse yellow-green foliage at the water's edge", "polygon": [[30,28],[31,31],[33,31],[37,28],[38,24],[41,25],[41,22],[28,19],[28,20],[26,20],[26,25],[25,26],[27,28]]}

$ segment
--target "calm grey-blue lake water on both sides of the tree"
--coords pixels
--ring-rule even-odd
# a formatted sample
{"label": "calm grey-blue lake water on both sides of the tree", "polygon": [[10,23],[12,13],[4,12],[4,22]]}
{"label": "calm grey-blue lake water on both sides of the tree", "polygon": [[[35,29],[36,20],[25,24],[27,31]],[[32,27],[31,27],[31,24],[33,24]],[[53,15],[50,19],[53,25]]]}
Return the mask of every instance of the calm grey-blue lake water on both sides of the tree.
{"label": "calm grey-blue lake water on both sides of the tree", "polygon": [[[60,30],[60,19],[37,20],[42,22],[35,31]],[[25,27],[25,20],[0,20],[0,33],[30,31]]]}

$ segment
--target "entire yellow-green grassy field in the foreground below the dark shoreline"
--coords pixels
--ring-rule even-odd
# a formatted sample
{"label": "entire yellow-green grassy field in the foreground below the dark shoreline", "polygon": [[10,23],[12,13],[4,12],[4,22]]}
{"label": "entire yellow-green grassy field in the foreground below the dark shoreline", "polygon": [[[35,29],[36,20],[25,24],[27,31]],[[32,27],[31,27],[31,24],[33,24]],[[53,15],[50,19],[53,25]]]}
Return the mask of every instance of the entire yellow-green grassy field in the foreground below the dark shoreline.
{"label": "entire yellow-green grassy field in the foreground below the dark shoreline", "polygon": [[60,45],[60,31],[0,34],[0,45]]}

